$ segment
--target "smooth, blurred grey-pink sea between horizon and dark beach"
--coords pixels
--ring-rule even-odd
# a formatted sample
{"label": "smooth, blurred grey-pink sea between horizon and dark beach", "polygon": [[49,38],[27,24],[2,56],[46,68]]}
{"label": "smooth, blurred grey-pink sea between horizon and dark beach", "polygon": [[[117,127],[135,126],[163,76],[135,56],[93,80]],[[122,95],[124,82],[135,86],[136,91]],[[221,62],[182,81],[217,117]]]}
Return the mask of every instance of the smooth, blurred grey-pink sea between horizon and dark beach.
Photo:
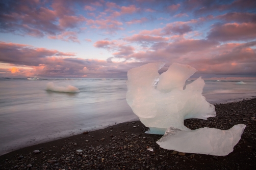
{"label": "smooth, blurred grey-pink sea between horizon and dark beach", "polygon": [[[193,81],[193,80],[192,80]],[[186,84],[192,81],[186,81]],[[256,79],[205,80],[207,101],[256,97]],[[46,84],[74,86],[80,93],[46,91]],[[0,78],[0,155],[83,131],[138,120],[126,103],[126,79]]]}

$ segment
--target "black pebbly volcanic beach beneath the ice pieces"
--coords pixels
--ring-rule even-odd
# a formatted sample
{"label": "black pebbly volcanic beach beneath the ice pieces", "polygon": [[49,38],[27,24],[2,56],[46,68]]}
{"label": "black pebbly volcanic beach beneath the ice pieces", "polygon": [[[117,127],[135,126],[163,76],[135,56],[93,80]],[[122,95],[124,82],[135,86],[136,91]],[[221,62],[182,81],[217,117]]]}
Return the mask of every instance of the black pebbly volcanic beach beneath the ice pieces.
{"label": "black pebbly volcanic beach beneath the ice pieces", "polygon": [[[148,128],[137,121],[13,151],[0,156],[0,169],[256,169],[256,99],[215,108],[216,117],[185,120],[185,125],[226,130],[245,124],[241,140],[227,156],[172,154],[156,144],[162,135],[145,134]],[[33,153],[37,149],[40,153]],[[84,152],[76,153],[78,149]]]}

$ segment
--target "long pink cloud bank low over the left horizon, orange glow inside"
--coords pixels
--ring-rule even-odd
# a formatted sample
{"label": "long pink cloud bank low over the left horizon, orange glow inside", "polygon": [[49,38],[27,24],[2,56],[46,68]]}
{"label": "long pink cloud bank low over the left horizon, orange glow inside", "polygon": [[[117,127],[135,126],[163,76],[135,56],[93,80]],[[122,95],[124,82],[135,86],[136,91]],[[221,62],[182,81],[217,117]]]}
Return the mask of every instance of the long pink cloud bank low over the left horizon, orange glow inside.
{"label": "long pink cloud bank low over the left horizon, orange glow inside", "polygon": [[[120,46],[119,53],[133,50]],[[38,76],[38,77],[88,77],[115,78],[126,77],[132,64],[117,63],[95,59],[71,58],[73,53],[36,48],[25,44],[0,43],[0,62],[9,63],[11,69],[0,69],[1,76]],[[27,67],[20,69],[15,66]]]}

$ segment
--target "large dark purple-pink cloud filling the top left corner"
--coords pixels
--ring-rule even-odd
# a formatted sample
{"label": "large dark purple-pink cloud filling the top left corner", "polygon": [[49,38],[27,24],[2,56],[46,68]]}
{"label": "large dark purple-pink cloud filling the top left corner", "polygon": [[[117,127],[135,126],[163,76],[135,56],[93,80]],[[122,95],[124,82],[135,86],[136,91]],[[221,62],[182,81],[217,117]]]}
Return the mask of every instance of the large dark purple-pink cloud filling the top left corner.
{"label": "large dark purple-pink cloud filling the top left corner", "polygon": [[73,5],[68,1],[54,1],[49,8],[42,1],[7,1],[0,12],[0,32],[33,37],[58,37],[63,32],[77,32],[86,18],[75,15]]}

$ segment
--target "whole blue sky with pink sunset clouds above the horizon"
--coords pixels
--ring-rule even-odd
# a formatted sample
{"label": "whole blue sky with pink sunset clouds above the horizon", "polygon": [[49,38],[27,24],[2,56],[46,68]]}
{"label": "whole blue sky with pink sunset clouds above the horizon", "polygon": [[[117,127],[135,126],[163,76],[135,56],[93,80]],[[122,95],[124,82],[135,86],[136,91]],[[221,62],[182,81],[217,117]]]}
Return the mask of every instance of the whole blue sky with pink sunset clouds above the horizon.
{"label": "whole blue sky with pink sunset clouds above the horizon", "polygon": [[152,62],[256,77],[256,1],[0,1],[0,77],[126,78]]}

